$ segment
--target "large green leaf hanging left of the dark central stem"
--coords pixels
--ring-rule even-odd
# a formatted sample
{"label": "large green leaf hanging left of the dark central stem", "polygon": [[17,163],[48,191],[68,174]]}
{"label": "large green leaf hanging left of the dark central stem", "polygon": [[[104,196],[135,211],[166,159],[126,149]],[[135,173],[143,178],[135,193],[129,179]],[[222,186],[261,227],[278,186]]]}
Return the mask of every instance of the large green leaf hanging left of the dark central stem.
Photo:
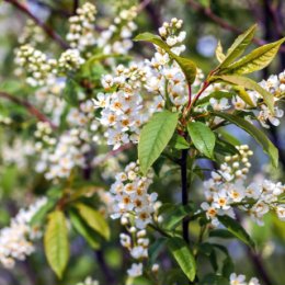
{"label": "large green leaf hanging left of the dark central stem", "polygon": [[142,127],[138,142],[138,160],[145,175],[171,139],[178,119],[178,113],[163,111],[155,114]]}

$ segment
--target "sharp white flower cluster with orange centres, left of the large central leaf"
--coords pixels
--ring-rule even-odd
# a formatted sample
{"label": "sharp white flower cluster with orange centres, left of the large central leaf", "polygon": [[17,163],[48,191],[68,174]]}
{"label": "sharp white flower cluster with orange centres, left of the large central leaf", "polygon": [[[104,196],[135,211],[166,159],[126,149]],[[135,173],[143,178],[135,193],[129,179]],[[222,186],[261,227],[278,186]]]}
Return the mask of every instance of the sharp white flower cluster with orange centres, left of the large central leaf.
{"label": "sharp white flower cluster with orange centres, left of the large central leaf", "polygon": [[137,65],[129,68],[121,65],[115,77],[102,78],[106,93],[98,93],[93,102],[101,110],[101,125],[107,127],[107,145],[113,145],[114,149],[129,141],[137,142],[139,128],[148,118],[138,92],[141,81],[145,81],[145,72]]}

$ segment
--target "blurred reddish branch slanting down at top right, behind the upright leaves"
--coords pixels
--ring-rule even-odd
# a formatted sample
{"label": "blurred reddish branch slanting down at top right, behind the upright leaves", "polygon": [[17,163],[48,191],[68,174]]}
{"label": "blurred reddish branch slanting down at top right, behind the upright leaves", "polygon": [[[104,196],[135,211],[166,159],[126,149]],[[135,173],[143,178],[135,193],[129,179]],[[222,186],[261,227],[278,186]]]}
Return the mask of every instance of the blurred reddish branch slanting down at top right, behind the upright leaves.
{"label": "blurred reddish branch slanting down at top right, behind the upright leaves", "polygon": [[[233,32],[236,34],[241,34],[243,31],[229,24],[227,21],[225,21],[224,19],[219,18],[218,15],[216,15],[215,13],[213,13],[213,11],[209,8],[204,8],[202,4],[197,3],[194,0],[187,0],[189,4],[194,8],[196,11],[202,12],[203,14],[205,14],[208,19],[210,19],[213,22],[217,23],[220,27],[228,30],[230,32]],[[266,44],[265,41],[254,37],[253,38],[253,43],[255,43],[256,45],[264,45]],[[285,47],[281,47],[280,52],[285,53]]]}

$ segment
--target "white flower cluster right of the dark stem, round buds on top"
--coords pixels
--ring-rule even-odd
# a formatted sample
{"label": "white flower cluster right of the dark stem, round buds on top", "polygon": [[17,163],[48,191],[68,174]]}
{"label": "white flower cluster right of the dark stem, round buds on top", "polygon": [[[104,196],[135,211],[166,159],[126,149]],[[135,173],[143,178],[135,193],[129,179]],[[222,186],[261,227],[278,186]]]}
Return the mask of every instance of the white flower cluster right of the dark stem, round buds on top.
{"label": "white flower cluster right of the dark stem, round buds on top", "polygon": [[270,209],[275,210],[280,219],[284,220],[285,206],[278,201],[278,196],[285,192],[285,185],[269,180],[246,185],[252,151],[247,145],[237,149],[239,155],[226,157],[220,169],[212,172],[212,179],[204,182],[207,202],[201,206],[207,218],[217,226],[219,215],[235,217],[232,207],[236,206],[247,212],[259,225],[263,225],[262,218]]}

